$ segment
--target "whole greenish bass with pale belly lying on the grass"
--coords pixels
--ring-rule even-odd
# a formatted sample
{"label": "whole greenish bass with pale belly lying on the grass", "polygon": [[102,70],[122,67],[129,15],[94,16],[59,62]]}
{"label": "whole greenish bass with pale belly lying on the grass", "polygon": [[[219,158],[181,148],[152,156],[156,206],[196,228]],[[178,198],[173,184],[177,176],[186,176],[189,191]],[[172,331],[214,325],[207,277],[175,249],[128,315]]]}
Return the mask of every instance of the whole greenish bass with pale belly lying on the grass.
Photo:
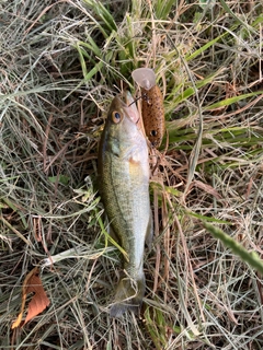
{"label": "whole greenish bass with pale belly lying on the grass", "polygon": [[[144,252],[152,235],[149,160],[139,113],[129,92],[116,96],[99,150],[100,192],[111,229],[127,254],[111,316],[138,311],[145,294]],[[130,105],[130,106],[129,106]]]}

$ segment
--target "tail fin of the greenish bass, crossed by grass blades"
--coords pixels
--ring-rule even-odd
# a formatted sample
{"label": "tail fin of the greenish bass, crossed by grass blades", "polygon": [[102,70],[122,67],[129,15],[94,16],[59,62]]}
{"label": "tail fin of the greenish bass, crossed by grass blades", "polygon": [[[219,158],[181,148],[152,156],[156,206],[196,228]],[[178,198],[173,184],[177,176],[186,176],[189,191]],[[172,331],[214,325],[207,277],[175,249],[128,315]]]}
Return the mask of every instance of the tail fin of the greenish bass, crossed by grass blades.
{"label": "tail fin of the greenish bass, crossed by grass blades", "polygon": [[138,314],[145,289],[144,273],[136,279],[132,279],[128,276],[122,278],[116,289],[115,303],[111,307],[111,317],[118,318],[127,310]]}

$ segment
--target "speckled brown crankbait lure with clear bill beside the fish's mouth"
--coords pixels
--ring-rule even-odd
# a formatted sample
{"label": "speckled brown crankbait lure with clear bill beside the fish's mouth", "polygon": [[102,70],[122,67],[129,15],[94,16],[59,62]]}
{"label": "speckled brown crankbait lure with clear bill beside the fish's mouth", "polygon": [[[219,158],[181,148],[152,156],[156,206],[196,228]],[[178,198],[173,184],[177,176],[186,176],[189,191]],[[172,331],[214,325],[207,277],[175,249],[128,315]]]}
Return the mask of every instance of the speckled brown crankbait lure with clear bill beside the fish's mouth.
{"label": "speckled brown crankbait lure with clear bill beside the fish's mouth", "polygon": [[159,148],[164,135],[164,107],[162,93],[156,84],[156,74],[150,68],[138,68],[132,77],[141,88],[146,136],[153,147]]}

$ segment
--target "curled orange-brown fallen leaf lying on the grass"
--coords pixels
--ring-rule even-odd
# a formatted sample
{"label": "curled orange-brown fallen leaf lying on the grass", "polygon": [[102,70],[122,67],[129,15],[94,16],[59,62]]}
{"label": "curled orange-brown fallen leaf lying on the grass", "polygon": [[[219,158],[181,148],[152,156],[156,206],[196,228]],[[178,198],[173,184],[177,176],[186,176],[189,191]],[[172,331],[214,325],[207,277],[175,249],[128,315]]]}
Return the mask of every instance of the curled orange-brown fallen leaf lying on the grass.
{"label": "curled orange-brown fallen leaf lying on the grass", "polygon": [[[46,295],[46,292],[42,285],[41,278],[38,276],[38,268],[35,267],[27,276],[25,277],[23,287],[22,287],[22,304],[21,312],[12,324],[12,329],[16,327],[23,327],[28,320],[31,320],[36,315],[41,314],[50,303],[49,299]],[[26,295],[34,293],[32,300],[28,303],[28,311],[25,317],[25,320],[22,322]]]}

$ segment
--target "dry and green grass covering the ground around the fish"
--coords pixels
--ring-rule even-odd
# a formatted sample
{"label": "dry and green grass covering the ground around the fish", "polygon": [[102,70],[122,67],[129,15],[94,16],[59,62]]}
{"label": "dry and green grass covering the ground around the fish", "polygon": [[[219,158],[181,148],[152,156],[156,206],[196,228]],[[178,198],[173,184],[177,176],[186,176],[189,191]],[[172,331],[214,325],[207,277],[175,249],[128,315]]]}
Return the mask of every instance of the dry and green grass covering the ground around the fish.
{"label": "dry and green grass covering the ground around the fish", "polygon": [[[0,4],[1,349],[263,348],[262,276],[203,225],[263,256],[262,2],[173,2]],[[135,92],[145,65],[169,138],[141,317],[116,320],[96,147],[115,85]],[[34,266],[50,306],[11,330]]]}

